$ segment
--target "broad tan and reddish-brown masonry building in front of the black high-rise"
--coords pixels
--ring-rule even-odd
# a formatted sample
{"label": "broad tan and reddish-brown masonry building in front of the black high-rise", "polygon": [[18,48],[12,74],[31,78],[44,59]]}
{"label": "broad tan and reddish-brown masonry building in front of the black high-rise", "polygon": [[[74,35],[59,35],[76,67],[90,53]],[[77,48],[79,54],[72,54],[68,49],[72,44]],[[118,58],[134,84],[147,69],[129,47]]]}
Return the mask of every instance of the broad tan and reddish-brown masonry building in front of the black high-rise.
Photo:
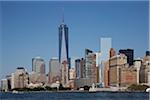
{"label": "broad tan and reddish-brown masonry building in front of the black high-rise", "polygon": [[109,85],[128,87],[137,84],[137,69],[129,67],[127,56],[119,54],[109,59]]}

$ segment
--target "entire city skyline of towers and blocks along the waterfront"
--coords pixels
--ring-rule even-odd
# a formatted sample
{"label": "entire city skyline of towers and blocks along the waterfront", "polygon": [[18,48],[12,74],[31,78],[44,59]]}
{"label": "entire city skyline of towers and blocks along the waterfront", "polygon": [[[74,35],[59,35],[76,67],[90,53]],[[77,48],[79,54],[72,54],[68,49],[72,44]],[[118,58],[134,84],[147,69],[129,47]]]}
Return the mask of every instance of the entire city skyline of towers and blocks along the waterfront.
{"label": "entire city skyline of towers and blocks along the waterfront", "polygon": [[[111,38],[100,39],[100,51],[85,49],[82,58],[69,57],[68,27],[63,23],[59,27],[58,57],[49,60],[49,72],[46,74],[44,59],[32,59],[32,72],[18,67],[14,73],[1,79],[1,90],[15,88],[34,88],[41,86],[80,89],[84,86],[105,88],[126,88],[132,84],[150,86],[150,51],[143,58],[134,58],[133,49],[120,49],[117,53],[112,48]],[[74,66],[74,67],[72,67]]]}

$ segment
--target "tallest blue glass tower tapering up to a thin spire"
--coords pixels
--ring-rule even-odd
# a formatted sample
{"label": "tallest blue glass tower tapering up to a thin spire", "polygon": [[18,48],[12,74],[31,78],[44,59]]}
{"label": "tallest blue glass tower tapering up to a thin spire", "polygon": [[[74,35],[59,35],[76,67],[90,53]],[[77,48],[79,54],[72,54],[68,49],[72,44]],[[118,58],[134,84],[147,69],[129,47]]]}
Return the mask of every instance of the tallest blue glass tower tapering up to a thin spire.
{"label": "tallest blue glass tower tapering up to a thin spire", "polygon": [[62,63],[64,60],[67,61],[70,69],[68,40],[69,40],[68,27],[64,23],[64,14],[63,14],[62,23],[59,26],[59,63]]}

